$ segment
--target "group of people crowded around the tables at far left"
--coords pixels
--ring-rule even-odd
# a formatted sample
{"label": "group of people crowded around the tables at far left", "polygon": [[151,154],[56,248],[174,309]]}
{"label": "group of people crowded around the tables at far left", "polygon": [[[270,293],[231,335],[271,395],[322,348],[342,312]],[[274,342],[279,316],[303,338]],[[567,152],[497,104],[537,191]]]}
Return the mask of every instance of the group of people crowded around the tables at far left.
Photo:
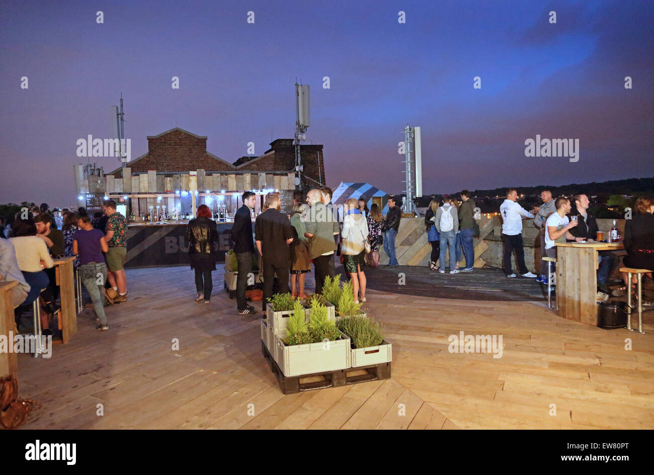
{"label": "group of people crowded around the tables at far left", "polygon": [[50,211],[43,203],[23,208],[0,237],[0,279],[19,284],[12,289],[19,330],[24,313],[38,299],[43,334],[56,336],[52,323],[61,305],[54,260],[70,256],[77,256],[74,266],[93,303],[97,329],[109,329],[104,307],[128,298],[123,268],[127,220],[116,212],[116,202],[105,201],[93,220],[84,207]]}

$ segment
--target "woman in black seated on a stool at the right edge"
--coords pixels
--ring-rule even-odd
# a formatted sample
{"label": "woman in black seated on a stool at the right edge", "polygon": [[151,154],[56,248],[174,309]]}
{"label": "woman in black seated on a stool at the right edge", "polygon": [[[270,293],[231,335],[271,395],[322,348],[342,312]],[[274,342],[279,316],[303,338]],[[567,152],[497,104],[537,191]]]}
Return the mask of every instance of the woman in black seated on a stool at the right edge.
{"label": "woman in black seated on a stool at the right edge", "polygon": [[[625,267],[632,269],[654,270],[654,196],[644,195],[636,200],[636,213],[632,219],[625,220],[625,250],[627,255],[623,259]],[[627,273],[623,272],[623,279],[627,283]],[[650,279],[652,273],[647,275]],[[636,275],[632,275],[632,293],[635,292]]]}

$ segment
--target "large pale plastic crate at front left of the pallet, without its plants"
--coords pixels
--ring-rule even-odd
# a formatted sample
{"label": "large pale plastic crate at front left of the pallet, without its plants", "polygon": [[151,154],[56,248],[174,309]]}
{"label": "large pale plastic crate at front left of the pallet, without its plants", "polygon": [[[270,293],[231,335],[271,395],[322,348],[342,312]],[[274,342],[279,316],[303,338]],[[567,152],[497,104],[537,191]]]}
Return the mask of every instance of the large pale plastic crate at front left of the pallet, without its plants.
{"label": "large pale plastic crate at front left of the pallet, without its plants", "polygon": [[[284,331],[284,338],[286,331]],[[275,361],[284,376],[322,373],[350,368],[352,351],[350,339],[341,333],[341,340],[286,346],[281,336],[275,335]]]}

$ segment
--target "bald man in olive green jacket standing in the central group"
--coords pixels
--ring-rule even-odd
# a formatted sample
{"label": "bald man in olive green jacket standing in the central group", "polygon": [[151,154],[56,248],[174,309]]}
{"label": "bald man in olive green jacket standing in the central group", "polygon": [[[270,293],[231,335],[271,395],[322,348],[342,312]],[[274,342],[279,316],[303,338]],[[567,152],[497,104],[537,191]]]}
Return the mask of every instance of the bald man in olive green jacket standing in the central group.
{"label": "bald man in olive green jacket standing in the central group", "polygon": [[322,202],[320,190],[309,191],[307,203],[311,209],[307,211],[307,232],[304,236],[309,238],[309,258],[313,260],[316,270],[316,293],[320,294],[325,277],[336,276],[334,236],[341,232],[341,226],[334,216],[334,211]]}

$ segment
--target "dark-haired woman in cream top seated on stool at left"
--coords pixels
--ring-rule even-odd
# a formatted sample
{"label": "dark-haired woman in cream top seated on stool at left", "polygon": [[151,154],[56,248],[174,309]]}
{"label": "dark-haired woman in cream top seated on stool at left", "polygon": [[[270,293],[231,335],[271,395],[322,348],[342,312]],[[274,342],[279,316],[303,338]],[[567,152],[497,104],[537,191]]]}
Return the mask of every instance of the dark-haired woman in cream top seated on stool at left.
{"label": "dark-haired woman in cream top seated on stool at left", "polygon": [[[16,261],[18,268],[23,273],[25,281],[29,284],[29,292],[27,298],[18,309],[16,309],[16,325],[20,322],[22,310],[29,308],[29,304],[33,303],[42,289],[46,289],[50,283],[48,275],[43,272],[44,268],[51,269],[54,266],[54,261],[48,253],[48,247],[43,239],[37,237],[37,227],[34,224],[34,219],[31,213],[27,214],[26,219],[22,219],[22,212],[18,211],[14,217],[14,224],[12,224],[12,237],[9,239],[16,249]],[[44,335],[52,335],[48,328],[50,322],[48,321],[48,313],[54,310],[52,302],[52,294],[44,292],[44,312],[41,313],[41,326]],[[35,328],[36,331],[36,328]]]}

